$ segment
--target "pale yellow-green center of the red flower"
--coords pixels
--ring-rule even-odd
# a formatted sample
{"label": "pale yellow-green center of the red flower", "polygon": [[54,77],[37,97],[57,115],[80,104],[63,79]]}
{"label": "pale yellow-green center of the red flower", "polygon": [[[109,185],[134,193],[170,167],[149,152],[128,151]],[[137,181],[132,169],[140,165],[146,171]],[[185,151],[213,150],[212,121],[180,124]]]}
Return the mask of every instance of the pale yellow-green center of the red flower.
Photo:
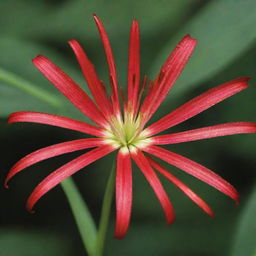
{"label": "pale yellow-green center of the red flower", "polygon": [[124,121],[113,117],[105,138],[108,143],[118,147],[142,147],[144,143],[148,143],[149,138],[141,130],[140,124],[139,116],[134,119],[132,115],[126,114]]}

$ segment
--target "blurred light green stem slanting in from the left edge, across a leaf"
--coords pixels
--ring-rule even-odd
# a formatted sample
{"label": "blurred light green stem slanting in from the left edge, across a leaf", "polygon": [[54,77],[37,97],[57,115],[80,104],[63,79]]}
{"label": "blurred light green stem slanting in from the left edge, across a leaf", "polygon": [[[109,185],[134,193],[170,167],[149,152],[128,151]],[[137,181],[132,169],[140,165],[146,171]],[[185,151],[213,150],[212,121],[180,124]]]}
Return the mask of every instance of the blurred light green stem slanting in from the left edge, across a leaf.
{"label": "blurred light green stem slanting in from the left edge, across a leaf", "polygon": [[22,77],[10,71],[0,68],[0,80],[36,97],[37,99],[53,107],[61,106],[61,101],[57,96],[42,90],[40,87],[33,85],[29,81],[26,81]]}

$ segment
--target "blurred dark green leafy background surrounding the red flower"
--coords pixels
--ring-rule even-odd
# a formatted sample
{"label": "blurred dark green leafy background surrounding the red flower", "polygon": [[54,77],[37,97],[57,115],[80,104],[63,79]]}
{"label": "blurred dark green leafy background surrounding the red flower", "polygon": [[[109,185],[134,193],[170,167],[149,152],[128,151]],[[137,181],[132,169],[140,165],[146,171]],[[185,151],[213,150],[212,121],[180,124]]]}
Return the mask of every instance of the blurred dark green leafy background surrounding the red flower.
{"label": "blurred dark green leafy background surrounding the red flower", "polygon": [[[107,66],[96,26],[96,13],[108,31],[120,84],[125,88],[129,29],[133,18],[141,26],[142,74],[154,78],[177,41],[190,33],[198,45],[155,118],[219,83],[240,76],[255,76],[255,0],[1,0],[0,1],[0,115],[1,183],[8,169],[22,156],[81,134],[39,124],[7,125],[13,111],[62,114],[87,121],[35,69],[31,59],[44,54],[62,67],[83,88],[86,84],[66,41],[85,47],[100,77],[107,81]],[[55,94],[60,106],[49,106],[3,79],[12,72],[40,89]],[[1,73],[2,72],[2,73]],[[181,124],[173,131],[229,121],[256,121],[256,79],[246,91]],[[236,206],[221,193],[169,166],[216,212],[211,219],[172,184],[163,184],[173,201],[176,222],[166,226],[151,188],[134,169],[132,220],[125,239],[113,238],[115,209],[105,255],[147,256],[255,256],[256,186],[254,135],[184,143],[169,148],[204,164],[230,181],[241,194]],[[47,194],[36,214],[25,201],[36,184],[79,153],[44,161],[17,175],[11,189],[0,188],[1,256],[82,256],[82,243],[60,186]],[[74,176],[98,221],[101,201],[114,155],[105,157]]]}

